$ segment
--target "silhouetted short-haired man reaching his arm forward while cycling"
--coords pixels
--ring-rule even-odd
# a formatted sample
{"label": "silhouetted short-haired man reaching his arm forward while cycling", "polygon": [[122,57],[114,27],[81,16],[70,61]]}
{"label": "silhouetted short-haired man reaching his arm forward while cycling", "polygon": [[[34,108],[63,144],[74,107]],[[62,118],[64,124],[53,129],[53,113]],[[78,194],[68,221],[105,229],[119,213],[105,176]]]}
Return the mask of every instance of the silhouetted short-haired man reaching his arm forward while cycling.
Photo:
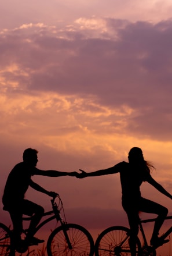
{"label": "silhouetted short-haired man reaching his arm forward while cycling", "polygon": [[31,177],[34,175],[49,177],[76,176],[78,174],[77,172],[39,170],[36,168],[36,164],[38,162],[37,154],[37,150],[27,148],[23,152],[23,162],[17,163],[17,165],[14,166],[6,181],[2,202],[4,205],[3,209],[9,211],[10,218],[12,219],[14,246],[20,246],[21,242],[23,241],[21,240],[21,233],[23,230],[23,214],[32,216],[27,236],[25,237],[26,243],[38,244],[44,241],[34,237],[35,227],[41,220],[44,214],[44,209],[40,205],[24,199],[24,195],[28,187],[30,186],[32,189],[45,193],[50,197],[56,195],[55,192],[47,191],[43,189],[43,187],[33,182]]}

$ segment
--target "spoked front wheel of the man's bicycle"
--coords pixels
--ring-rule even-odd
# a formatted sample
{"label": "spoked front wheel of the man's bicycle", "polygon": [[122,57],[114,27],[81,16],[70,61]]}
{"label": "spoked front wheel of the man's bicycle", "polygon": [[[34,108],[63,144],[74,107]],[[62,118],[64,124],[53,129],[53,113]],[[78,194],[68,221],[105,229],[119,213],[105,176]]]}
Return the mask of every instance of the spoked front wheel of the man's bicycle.
{"label": "spoked front wheel of the man's bicycle", "polygon": [[50,234],[47,240],[47,254],[49,256],[92,256],[94,241],[84,227],[66,224],[57,227]]}

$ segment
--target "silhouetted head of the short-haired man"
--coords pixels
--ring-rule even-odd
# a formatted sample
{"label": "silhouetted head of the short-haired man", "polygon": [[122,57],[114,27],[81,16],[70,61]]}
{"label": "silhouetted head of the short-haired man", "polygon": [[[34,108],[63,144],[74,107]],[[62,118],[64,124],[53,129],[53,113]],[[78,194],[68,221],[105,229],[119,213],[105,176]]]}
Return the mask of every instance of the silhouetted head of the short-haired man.
{"label": "silhouetted head of the short-haired man", "polygon": [[37,150],[34,150],[33,148],[27,148],[23,152],[23,161],[27,162],[31,166],[36,166],[36,163],[38,162],[37,154]]}

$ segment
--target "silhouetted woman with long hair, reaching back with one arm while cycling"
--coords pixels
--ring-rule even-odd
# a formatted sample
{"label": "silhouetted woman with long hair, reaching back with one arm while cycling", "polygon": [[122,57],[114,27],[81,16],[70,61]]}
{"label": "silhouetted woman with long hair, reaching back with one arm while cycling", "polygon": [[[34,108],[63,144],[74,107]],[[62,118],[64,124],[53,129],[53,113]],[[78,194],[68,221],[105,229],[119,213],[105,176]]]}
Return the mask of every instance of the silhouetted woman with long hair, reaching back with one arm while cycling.
{"label": "silhouetted woman with long hair, reaching back with one arm while cycling", "polygon": [[145,161],[141,148],[133,147],[129,151],[129,162],[120,162],[111,168],[97,170],[87,173],[83,170],[79,178],[88,176],[101,176],[113,173],[120,173],[120,183],[122,186],[122,207],[126,211],[130,225],[130,251],[131,256],[136,256],[136,238],[138,234],[139,212],[157,214],[151,246],[167,243],[169,240],[161,240],[158,237],[160,227],[167,216],[168,209],[162,205],[141,197],[140,186],[142,182],[150,183],[160,193],[172,199],[169,194],[158,182],[150,175],[150,169],[154,168],[151,163]]}

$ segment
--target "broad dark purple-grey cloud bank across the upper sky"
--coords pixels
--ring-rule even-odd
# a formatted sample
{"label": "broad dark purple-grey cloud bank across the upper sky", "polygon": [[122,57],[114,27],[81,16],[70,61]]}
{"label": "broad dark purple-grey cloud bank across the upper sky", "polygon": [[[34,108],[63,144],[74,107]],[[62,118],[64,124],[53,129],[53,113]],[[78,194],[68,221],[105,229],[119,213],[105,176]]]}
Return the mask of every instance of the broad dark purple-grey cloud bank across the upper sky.
{"label": "broad dark purple-grey cloud bank across the upper sky", "polygon": [[[152,89],[160,90],[162,81],[170,90],[171,22],[126,24],[111,19],[109,28],[106,39],[89,38],[87,31],[53,34],[48,27],[13,31],[2,38],[1,63],[10,58],[31,69],[27,86],[32,90],[96,94],[104,104],[121,104],[123,99],[132,105],[136,97],[145,104],[140,94],[153,98]],[[65,34],[68,38],[61,38]]]}

